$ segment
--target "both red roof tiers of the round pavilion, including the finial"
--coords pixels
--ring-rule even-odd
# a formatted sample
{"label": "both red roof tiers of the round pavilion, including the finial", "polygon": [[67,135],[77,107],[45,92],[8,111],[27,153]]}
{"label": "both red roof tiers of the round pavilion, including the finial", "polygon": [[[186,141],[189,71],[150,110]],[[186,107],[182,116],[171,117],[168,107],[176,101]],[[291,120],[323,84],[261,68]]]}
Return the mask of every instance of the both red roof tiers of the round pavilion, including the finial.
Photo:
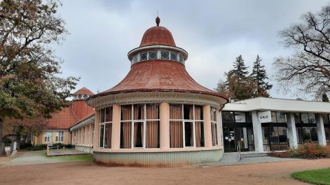
{"label": "both red roof tiers of the round pavilion, including the finial", "polygon": [[[142,37],[141,47],[166,45],[176,47],[170,31],[165,27],[157,26],[147,29]],[[139,48],[137,48],[139,49]],[[168,48],[170,49],[170,48]],[[131,66],[131,71],[118,85],[93,95],[88,99],[115,93],[131,93],[135,91],[174,91],[184,93],[201,93],[214,95],[228,101],[223,95],[198,84],[186,71],[184,64],[170,60],[146,60]],[[87,99],[87,101],[88,101]]]}

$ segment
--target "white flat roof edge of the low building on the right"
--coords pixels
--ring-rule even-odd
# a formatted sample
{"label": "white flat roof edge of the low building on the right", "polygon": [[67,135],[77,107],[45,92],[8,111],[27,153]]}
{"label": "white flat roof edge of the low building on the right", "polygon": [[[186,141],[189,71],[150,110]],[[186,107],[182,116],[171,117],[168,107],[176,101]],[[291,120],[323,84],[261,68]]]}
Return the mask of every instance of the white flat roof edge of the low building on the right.
{"label": "white flat roof edge of the low building on the right", "polygon": [[223,110],[231,111],[254,111],[273,110],[281,112],[311,112],[330,114],[329,102],[304,101],[294,99],[276,99],[257,97],[245,99],[234,103],[227,103]]}

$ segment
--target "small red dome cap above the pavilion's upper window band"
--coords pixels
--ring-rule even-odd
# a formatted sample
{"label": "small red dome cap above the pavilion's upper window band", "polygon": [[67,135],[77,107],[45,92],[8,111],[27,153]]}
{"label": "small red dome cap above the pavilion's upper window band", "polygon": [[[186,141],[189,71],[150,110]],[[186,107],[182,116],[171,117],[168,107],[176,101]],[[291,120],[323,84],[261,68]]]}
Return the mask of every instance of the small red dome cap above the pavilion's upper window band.
{"label": "small red dome cap above the pavilion's upper window band", "polygon": [[166,27],[154,26],[146,30],[141,40],[140,47],[150,45],[175,46],[172,34]]}

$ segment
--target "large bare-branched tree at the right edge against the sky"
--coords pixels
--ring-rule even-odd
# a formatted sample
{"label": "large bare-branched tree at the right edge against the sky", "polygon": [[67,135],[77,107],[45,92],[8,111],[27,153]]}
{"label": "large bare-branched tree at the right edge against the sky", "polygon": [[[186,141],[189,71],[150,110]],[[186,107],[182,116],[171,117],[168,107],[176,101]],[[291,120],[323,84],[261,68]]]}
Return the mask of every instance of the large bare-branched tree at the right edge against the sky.
{"label": "large bare-branched tree at the right edge against the sky", "polygon": [[330,5],[318,13],[307,12],[301,22],[282,30],[283,44],[292,56],[276,58],[276,79],[307,93],[330,92]]}

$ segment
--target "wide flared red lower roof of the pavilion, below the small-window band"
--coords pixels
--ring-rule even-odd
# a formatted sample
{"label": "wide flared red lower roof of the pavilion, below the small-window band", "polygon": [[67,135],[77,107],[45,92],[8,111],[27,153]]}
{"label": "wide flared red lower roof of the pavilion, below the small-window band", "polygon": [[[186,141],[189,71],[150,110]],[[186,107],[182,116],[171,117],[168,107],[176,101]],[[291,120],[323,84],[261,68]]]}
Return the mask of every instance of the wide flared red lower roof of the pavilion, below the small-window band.
{"label": "wide flared red lower roof of the pavilion, below the small-window band", "polygon": [[192,79],[183,64],[168,60],[137,62],[122,82],[100,94],[133,91],[177,91],[222,97]]}

